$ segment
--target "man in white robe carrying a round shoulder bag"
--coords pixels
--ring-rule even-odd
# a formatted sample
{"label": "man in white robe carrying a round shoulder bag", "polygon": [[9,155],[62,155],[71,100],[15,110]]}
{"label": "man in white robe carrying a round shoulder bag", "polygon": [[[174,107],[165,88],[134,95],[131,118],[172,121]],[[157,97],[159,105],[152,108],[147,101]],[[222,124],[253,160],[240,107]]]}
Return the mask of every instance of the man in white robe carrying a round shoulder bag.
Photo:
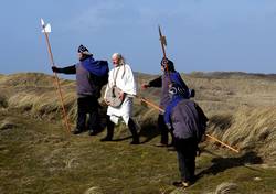
{"label": "man in white robe carrying a round shoulder bag", "polygon": [[[121,118],[123,121],[128,126],[131,134],[131,144],[139,144],[139,136],[137,132],[137,126],[131,118],[132,114],[132,98],[137,93],[136,82],[134,73],[128,64],[125,63],[125,58],[121,54],[115,53],[112,56],[114,68],[109,72],[108,84],[105,91],[105,101],[108,105],[107,108],[107,136],[100,141],[112,141],[114,134],[114,127],[118,123]],[[119,89],[119,106],[112,106],[108,101],[107,93],[109,89],[116,86]]]}

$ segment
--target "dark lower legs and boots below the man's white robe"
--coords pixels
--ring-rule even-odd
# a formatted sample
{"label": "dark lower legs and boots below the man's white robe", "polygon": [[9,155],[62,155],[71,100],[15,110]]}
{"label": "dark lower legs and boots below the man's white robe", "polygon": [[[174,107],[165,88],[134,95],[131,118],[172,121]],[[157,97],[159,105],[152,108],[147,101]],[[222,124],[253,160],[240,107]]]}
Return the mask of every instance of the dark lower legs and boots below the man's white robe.
{"label": "dark lower legs and boots below the man's white robe", "polygon": [[[106,118],[106,126],[107,126],[107,136],[106,136],[106,138],[107,139],[113,139],[115,125],[110,120],[109,116],[107,116],[107,118]],[[137,129],[136,129],[136,123],[134,122],[134,120],[131,118],[129,118],[127,126],[128,126],[129,131],[132,134],[134,141],[136,141],[136,142],[139,141],[139,136],[138,136],[138,132],[137,132]]]}

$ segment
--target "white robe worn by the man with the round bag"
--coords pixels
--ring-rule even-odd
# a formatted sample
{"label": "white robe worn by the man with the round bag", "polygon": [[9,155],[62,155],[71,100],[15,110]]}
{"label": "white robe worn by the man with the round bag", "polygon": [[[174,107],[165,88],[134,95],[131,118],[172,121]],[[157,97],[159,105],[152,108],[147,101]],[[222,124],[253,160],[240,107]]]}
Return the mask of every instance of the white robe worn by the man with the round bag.
{"label": "white robe worn by the man with the round bag", "polygon": [[[124,74],[124,68],[125,68],[125,74]],[[118,71],[118,74],[116,77],[117,71]],[[124,122],[127,125],[132,114],[132,97],[137,93],[134,73],[130,66],[127,64],[113,68],[109,72],[108,84],[106,86],[106,91],[105,91],[105,98],[106,98],[107,89],[112,88],[115,85],[115,80],[114,80],[115,77],[116,77],[116,86],[120,88],[126,94],[126,96],[125,96],[123,104],[119,107],[115,108],[115,107],[108,106],[107,115],[110,116],[110,120],[114,123],[117,125],[119,118],[123,118]]]}

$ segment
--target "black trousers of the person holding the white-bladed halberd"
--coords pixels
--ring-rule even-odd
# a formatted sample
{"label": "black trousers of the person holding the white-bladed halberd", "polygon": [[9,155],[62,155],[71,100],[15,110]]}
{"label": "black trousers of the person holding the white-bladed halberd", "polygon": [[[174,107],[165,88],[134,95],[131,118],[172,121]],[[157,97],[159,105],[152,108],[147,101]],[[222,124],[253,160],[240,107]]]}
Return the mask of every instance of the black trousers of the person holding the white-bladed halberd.
{"label": "black trousers of the person holding the white-bladed halberd", "polygon": [[86,114],[89,115],[88,118],[88,130],[98,129],[98,100],[93,96],[79,97],[77,98],[77,121],[76,128],[84,131],[86,128]]}

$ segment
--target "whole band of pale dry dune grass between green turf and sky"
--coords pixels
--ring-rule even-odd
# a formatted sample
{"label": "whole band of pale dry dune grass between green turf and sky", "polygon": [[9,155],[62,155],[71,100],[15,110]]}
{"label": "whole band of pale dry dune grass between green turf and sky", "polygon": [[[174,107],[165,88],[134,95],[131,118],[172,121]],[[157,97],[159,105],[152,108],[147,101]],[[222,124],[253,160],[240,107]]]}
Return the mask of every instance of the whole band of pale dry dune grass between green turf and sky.
{"label": "whole band of pale dry dune grass between green turf and sky", "polygon": [[[139,74],[140,83],[146,83],[151,77],[156,76]],[[266,158],[275,157],[275,75],[192,73],[182,77],[195,89],[195,100],[209,116],[209,131],[213,136],[240,149],[257,149],[262,150],[262,155]],[[50,119],[62,114],[52,76],[36,73],[2,75],[0,84],[0,105],[3,108],[18,108],[32,116]],[[75,83],[61,80],[61,86],[65,108],[73,122],[76,118]],[[159,103],[160,89],[150,88],[139,93],[153,103]],[[150,122],[153,122],[157,111],[139,104],[136,99],[136,120],[141,127],[149,123],[149,118],[152,118]]]}

